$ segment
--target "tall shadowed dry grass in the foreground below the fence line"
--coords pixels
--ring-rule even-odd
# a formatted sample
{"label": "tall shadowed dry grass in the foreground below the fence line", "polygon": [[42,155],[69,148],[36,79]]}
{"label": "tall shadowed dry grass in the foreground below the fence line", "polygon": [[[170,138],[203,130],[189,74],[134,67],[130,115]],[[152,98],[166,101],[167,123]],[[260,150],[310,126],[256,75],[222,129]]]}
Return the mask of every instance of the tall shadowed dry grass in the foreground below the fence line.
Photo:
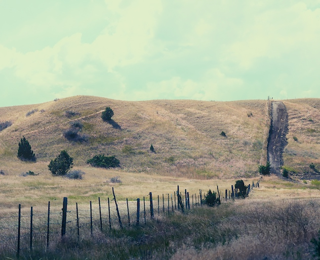
{"label": "tall shadowed dry grass in the foreground below the fence line", "polygon": [[[58,239],[21,259],[311,260],[320,228],[320,200],[240,200],[156,217],[140,227],[90,230]],[[1,252],[0,259],[15,256]]]}

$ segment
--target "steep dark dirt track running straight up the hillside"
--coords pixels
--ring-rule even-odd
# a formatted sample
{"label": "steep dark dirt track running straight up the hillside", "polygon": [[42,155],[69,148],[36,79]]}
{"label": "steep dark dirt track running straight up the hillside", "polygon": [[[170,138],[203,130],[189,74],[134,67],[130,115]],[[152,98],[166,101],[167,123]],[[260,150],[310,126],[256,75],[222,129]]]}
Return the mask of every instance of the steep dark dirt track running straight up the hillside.
{"label": "steep dark dirt track running straight up the hillside", "polygon": [[280,175],[283,165],[282,153],[287,145],[288,113],[281,101],[271,103],[271,126],[268,139],[268,161],[270,172]]}

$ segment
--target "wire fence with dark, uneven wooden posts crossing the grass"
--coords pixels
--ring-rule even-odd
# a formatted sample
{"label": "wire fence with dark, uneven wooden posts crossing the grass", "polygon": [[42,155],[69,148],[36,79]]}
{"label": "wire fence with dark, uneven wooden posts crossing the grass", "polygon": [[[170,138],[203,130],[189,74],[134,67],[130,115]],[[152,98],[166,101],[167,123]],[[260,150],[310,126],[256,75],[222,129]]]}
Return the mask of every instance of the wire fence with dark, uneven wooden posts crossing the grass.
{"label": "wire fence with dark, uneven wooden posts crossing the grass", "polygon": [[[261,178],[260,178],[261,180]],[[252,186],[248,185],[247,194],[254,188],[259,187],[260,180]],[[117,201],[113,191],[113,198],[89,206],[68,205],[68,199],[63,199],[63,207],[60,211],[52,211],[50,201],[47,212],[37,212],[33,207],[30,213],[22,211],[18,207],[18,215],[0,217],[0,252],[6,251],[16,253],[19,257],[21,252],[54,247],[57,241],[61,241],[66,235],[80,238],[87,234],[91,235],[106,230],[130,228],[133,225],[147,224],[155,218],[155,215],[170,215],[175,211],[189,211],[203,204],[204,195],[202,190],[199,194],[189,194],[187,189],[177,191],[173,194],[162,193],[153,196],[152,192],[143,198],[134,201]],[[225,203],[234,201],[239,197],[239,190],[231,186],[231,190],[220,193],[217,186],[216,194],[218,201]]]}

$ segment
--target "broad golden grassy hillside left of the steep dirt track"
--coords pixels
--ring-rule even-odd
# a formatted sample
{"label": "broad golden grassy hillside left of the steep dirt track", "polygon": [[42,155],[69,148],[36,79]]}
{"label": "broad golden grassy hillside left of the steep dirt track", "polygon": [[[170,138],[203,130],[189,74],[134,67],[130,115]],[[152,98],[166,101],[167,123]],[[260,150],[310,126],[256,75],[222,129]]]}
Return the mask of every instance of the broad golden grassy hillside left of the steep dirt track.
{"label": "broad golden grassy hillside left of the steep dirt track", "polygon": [[[115,113],[113,125],[101,119],[107,106]],[[79,114],[68,118],[66,111]],[[91,96],[0,108],[0,122],[12,122],[0,132],[0,168],[14,171],[10,165],[19,164],[18,143],[25,136],[38,162],[48,162],[66,149],[80,166],[104,153],[116,155],[125,171],[250,177],[256,175],[261,159],[266,111],[265,101],[126,102]],[[68,141],[63,136],[75,121],[84,125],[81,134],[87,136],[86,142]],[[227,137],[220,135],[222,131]],[[150,151],[151,144],[156,153]],[[33,167],[29,164],[26,170]]]}

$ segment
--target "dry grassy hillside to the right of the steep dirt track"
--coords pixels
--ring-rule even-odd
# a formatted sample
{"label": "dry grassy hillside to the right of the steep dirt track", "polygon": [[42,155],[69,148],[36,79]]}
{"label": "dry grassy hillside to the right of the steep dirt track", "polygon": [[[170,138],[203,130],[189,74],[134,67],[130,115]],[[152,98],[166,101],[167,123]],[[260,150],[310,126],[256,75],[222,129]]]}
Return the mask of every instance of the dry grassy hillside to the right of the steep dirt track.
{"label": "dry grassy hillside to the right of the steep dirt track", "polygon": [[[288,111],[288,145],[283,154],[284,166],[291,174],[319,179],[320,171],[320,99],[284,101]],[[315,170],[310,168],[314,163]]]}

